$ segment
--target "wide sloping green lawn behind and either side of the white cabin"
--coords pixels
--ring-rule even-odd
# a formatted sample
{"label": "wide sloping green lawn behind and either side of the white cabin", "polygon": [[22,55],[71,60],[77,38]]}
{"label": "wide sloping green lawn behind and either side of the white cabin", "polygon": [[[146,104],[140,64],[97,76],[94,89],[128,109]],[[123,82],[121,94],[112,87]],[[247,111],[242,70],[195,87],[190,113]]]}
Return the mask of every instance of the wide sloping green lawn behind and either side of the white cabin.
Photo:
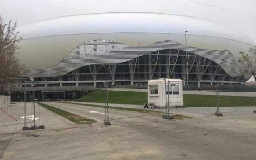
{"label": "wide sloping green lawn behind and either side of the white cabin", "polygon": [[[215,95],[192,95],[184,94],[184,106],[186,107],[215,107]],[[99,90],[78,99],[79,102],[105,103],[105,91]],[[117,104],[139,104],[147,103],[146,92],[124,92],[108,91],[108,102]],[[219,96],[221,107],[232,106],[256,106],[256,97]]]}

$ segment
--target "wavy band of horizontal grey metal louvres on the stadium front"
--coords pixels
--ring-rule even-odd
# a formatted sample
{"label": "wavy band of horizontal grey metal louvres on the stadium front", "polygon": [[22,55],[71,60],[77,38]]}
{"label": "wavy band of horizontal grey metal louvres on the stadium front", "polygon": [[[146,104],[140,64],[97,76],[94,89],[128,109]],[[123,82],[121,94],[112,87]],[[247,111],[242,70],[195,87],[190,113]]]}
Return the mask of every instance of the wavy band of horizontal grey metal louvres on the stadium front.
{"label": "wavy band of horizontal grey metal louvres on the stadium front", "polygon": [[[25,71],[25,75],[27,77],[52,77],[67,74],[77,68],[80,68],[85,65],[90,64],[118,64],[122,62],[127,62],[139,56],[143,56],[144,54],[148,54],[150,52],[154,52],[157,50],[163,49],[176,49],[183,50],[187,49],[187,52],[197,54],[199,56],[208,58],[211,61],[216,62],[220,65],[230,76],[242,74],[243,70],[241,66],[237,66],[234,60],[233,55],[226,50],[217,51],[217,50],[204,50],[197,49],[193,47],[186,47],[177,42],[173,42],[170,40],[161,41],[154,43],[148,46],[127,46],[116,42],[111,41],[102,41],[98,40],[97,42],[93,41],[83,43],[73,49],[67,57],[59,62],[56,66],[47,69],[39,69],[39,70],[30,70]],[[97,44],[96,44],[97,43]],[[94,45],[113,45],[114,49],[106,50],[106,52],[98,54],[95,50],[93,50],[93,54],[87,54],[84,56],[83,53],[80,53],[80,46],[94,46]],[[122,49],[117,49],[117,46],[123,47]],[[221,58],[219,58],[221,57]]]}

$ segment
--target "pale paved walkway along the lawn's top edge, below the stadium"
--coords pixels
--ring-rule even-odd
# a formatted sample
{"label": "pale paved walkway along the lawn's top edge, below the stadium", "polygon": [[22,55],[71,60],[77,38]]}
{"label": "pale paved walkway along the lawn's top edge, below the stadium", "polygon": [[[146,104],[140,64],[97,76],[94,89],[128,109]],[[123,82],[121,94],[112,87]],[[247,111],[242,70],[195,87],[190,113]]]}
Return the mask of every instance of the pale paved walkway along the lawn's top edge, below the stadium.
{"label": "pale paved walkway along the lawn's top edge, below the stadium", "polygon": [[[110,91],[147,92],[147,89],[109,88]],[[214,91],[183,91],[184,94],[216,95]],[[256,97],[256,92],[219,92],[221,96]]]}

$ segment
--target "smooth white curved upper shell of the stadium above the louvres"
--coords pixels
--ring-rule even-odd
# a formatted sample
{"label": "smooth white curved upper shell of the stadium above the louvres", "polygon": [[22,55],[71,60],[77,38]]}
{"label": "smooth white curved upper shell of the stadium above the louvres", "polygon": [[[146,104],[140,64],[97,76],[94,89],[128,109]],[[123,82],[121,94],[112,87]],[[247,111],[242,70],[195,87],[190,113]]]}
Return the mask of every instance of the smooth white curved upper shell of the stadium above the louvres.
{"label": "smooth white curved upper shell of the stadium above the louvres", "polygon": [[[34,70],[30,73],[56,66],[71,49],[83,42],[103,39],[129,46],[140,43],[142,47],[167,40],[185,45],[184,34],[188,31],[189,47],[223,51],[222,54],[216,54],[216,59],[220,59],[217,64],[229,75],[239,76],[241,73],[232,72],[232,68],[228,71],[228,66],[225,67],[227,55],[224,51],[231,55],[229,61],[233,61],[233,66],[230,67],[236,67],[238,53],[255,45],[246,35],[207,20],[157,13],[72,15],[26,24],[18,30],[23,36],[19,44],[19,59],[26,63],[27,70]],[[214,52],[208,54],[211,54],[210,57],[215,56]],[[241,70],[241,67],[238,68]],[[57,76],[63,73],[54,74]]]}

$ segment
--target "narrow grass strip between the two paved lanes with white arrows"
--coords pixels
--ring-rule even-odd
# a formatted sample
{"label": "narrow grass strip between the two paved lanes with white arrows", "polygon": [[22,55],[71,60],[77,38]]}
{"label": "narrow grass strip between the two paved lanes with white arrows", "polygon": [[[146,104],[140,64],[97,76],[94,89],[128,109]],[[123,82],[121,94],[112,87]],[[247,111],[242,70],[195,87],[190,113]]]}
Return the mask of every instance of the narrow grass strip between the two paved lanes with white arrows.
{"label": "narrow grass strip between the two paved lanes with white arrows", "polygon": [[40,106],[42,106],[42,107],[60,115],[63,118],[68,119],[69,121],[72,121],[72,122],[75,122],[75,123],[80,123],[80,122],[93,123],[93,122],[96,122],[93,119],[82,117],[80,115],[73,114],[73,113],[61,110],[59,108],[49,106],[49,105],[44,104],[44,103],[37,102],[37,104],[39,104]]}

